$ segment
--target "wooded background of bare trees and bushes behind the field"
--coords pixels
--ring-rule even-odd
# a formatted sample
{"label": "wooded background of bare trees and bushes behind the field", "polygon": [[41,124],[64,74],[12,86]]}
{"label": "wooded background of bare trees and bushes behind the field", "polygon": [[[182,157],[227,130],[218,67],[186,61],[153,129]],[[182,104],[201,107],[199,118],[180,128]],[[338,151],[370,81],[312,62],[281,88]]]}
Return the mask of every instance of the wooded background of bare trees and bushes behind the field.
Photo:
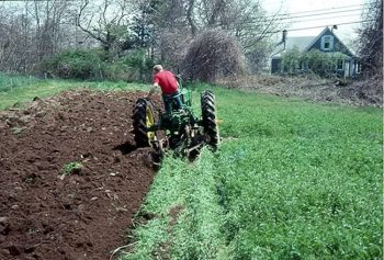
{"label": "wooded background of bare trees and bushes behind the field", "polygon": [[[383,1],[366,7],[375,20],[363,24],[359,53],[372,75],[383,65]],[[274,18],[258,0],[3,1],[0,71],[145,80],[163,64],[204,81],[258,74],[283,30]]]}

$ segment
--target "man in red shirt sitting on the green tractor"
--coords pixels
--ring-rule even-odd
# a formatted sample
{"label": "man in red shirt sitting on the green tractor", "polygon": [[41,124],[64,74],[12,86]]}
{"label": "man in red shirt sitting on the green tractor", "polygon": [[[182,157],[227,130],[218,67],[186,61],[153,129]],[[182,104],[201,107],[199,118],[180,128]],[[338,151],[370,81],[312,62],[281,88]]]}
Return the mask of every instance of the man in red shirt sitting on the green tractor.
{"label": "man in red shirt sitting on the green tractor", "polygon": [[161,65],[154,67],[154,88],[149,91],[147,99],[150,98],[157,87],[160,87],[167,113],[170,114],[172,112],[172,105],[177,110],[181,109],[182,102],[180,99],[179,82],[176,76],[171,71],[165,70]]}

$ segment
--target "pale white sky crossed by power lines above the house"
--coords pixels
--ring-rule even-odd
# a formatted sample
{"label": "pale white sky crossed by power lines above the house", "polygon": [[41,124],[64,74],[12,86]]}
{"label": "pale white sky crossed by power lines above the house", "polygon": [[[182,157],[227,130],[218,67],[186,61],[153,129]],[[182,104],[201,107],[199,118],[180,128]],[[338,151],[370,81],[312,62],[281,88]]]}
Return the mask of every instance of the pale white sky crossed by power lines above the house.
{"label": "pale white sky crossed by power lines above the house", "polygon": [[[348,44],[358,36],[355,30],[360,24],[355,22],[362,20],[364,0],[261,0],[261,4],[268,15],[290,14],[280,16],[285,18],[281,22],[286,24],[287,36],[316,36],[325,26],[336,24],[334,33]],[[319,27],[307,29],[315,26]]]}

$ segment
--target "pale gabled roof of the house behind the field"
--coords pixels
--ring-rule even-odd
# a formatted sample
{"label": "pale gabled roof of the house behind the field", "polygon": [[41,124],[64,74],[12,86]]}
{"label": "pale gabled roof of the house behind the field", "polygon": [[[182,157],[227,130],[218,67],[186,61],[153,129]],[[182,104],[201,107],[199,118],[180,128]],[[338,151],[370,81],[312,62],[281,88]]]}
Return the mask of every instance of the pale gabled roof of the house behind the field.
{"label": "pale gabled roof of the house behind the field", "polygon": [[281,55],[286,52],[286,49],[297,48],[298,52],[307,52],[326,32],[331,32],[334,36],[349,50],[353,56],[354,54],[337,37],[337,35],[329,30],[329,27],[325,27],[317,36],[296,36],[296,37],[286,37],[285,48],[283,43],[278,44],[274,54],[272,54],[271,58],[280,58]]}

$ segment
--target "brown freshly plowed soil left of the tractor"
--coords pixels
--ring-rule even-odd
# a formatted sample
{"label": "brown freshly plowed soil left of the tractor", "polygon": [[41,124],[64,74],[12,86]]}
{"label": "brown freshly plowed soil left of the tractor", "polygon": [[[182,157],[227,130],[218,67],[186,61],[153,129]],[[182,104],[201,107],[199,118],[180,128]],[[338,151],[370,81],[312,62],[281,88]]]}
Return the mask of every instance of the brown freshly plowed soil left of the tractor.
{"label": "brown freshly plowed soil left of the tractor", "polygon": [[155,174],[131,133],[143,95],[65,92],[0,112],[0,259],[105,260],[126,242]]}

